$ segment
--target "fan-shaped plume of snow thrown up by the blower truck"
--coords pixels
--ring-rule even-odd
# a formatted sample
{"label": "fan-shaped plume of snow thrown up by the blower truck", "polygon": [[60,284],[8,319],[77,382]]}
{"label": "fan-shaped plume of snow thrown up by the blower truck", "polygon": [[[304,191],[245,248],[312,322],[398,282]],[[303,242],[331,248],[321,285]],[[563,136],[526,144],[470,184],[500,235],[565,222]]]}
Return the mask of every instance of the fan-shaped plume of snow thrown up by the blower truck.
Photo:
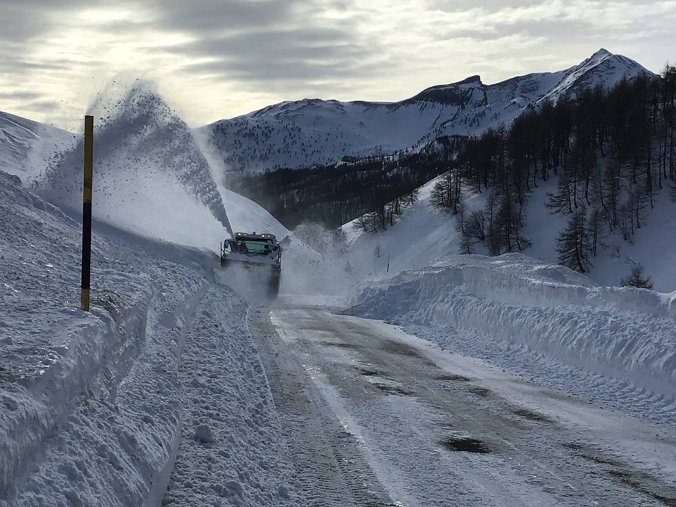
{"label": "fan-shaped plume of snow thrown up by the blower truck", "polygon": [[[95,116],[94,217],[142,235],[215,250],[230,236],[221,195],[190,129],[142,81],[112,81]],[[41,191],[81,206],[83,141],[54,160]]]}

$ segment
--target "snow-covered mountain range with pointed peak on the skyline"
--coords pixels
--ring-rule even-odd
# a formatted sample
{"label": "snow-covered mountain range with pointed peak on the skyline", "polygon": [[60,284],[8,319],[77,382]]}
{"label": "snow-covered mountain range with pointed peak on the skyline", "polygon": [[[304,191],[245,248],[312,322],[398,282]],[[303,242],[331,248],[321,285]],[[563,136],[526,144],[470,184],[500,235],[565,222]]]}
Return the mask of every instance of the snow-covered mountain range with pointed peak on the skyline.
{"label": "snow-covered mountain range with pointed peak on the skyline", "polygon": [[433,86],[399,102],[304,99],[268,106],[199,128],[230,171],[334,163],[344,156],[415,148],[439,135],[475,135],[509,123],[528,106],[575,95],[622,77],[650,74],[639,63],[599,50],[577,66],[485,85],[479,76]]}

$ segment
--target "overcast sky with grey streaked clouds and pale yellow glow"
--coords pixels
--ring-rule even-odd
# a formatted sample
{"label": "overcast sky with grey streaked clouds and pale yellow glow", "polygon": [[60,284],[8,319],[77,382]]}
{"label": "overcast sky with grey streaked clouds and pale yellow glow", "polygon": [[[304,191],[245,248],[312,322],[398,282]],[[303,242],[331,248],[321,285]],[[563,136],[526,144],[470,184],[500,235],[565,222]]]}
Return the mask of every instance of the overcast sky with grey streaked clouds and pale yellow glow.
{"label": "overcast sky with grey streaked clouds and pale yellow glow", "polygon": [[117,72],[155,81],[191,126],[494,83],[602,47],[659,72],[675,26],[676,0],[0,0],[0,110],[74,129]]}

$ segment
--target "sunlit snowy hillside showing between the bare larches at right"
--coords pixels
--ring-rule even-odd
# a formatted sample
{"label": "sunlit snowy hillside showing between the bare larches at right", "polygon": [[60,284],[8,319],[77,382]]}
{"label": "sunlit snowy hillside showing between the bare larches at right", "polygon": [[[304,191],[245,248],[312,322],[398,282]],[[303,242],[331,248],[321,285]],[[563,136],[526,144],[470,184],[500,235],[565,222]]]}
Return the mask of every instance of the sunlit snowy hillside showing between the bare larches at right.
{"label": "sunlit snowy hillside showing between the bare larches at right", "polygon": [[[446,255],[462,252],[461,238],[456,230],[457,218],[434,210],[429,197],[436,179],[419,188],[419,201],[404,210],[394,226],[377,233],[364,233],[354,228],[356,220],[346,223],[343,230],[350,242],[350,264],[361,277],[381,279],[392,277],[403,270],[429,266]],[[547,194],[556,192],[557,179],[541,181],[526,201],[524,236],[531,246],[524,253],[547,264],[557,264],[557,236],[564,230],[567,215],[555,214],[546,207]],[[481,210],[486,192],[466,192],[466,212]],[[676,245],[674,204],[668,189],[657,192],[655,207],[646,216],[646,224],[639,228],[633,243],[624,241],[619,232],[602,238],[597,257],[591,258],[593,268],[590,280],[602,286],[618,286],[631,268],[642,264],[646,275],[652,277],[658,292],[676,290],[676,263],[673,261]],[[378,255],[379,252],[379,255]],[[486,253],[481,243],[473,246],[473,253]],[[390,271],[386,266],[390,255]]]}

